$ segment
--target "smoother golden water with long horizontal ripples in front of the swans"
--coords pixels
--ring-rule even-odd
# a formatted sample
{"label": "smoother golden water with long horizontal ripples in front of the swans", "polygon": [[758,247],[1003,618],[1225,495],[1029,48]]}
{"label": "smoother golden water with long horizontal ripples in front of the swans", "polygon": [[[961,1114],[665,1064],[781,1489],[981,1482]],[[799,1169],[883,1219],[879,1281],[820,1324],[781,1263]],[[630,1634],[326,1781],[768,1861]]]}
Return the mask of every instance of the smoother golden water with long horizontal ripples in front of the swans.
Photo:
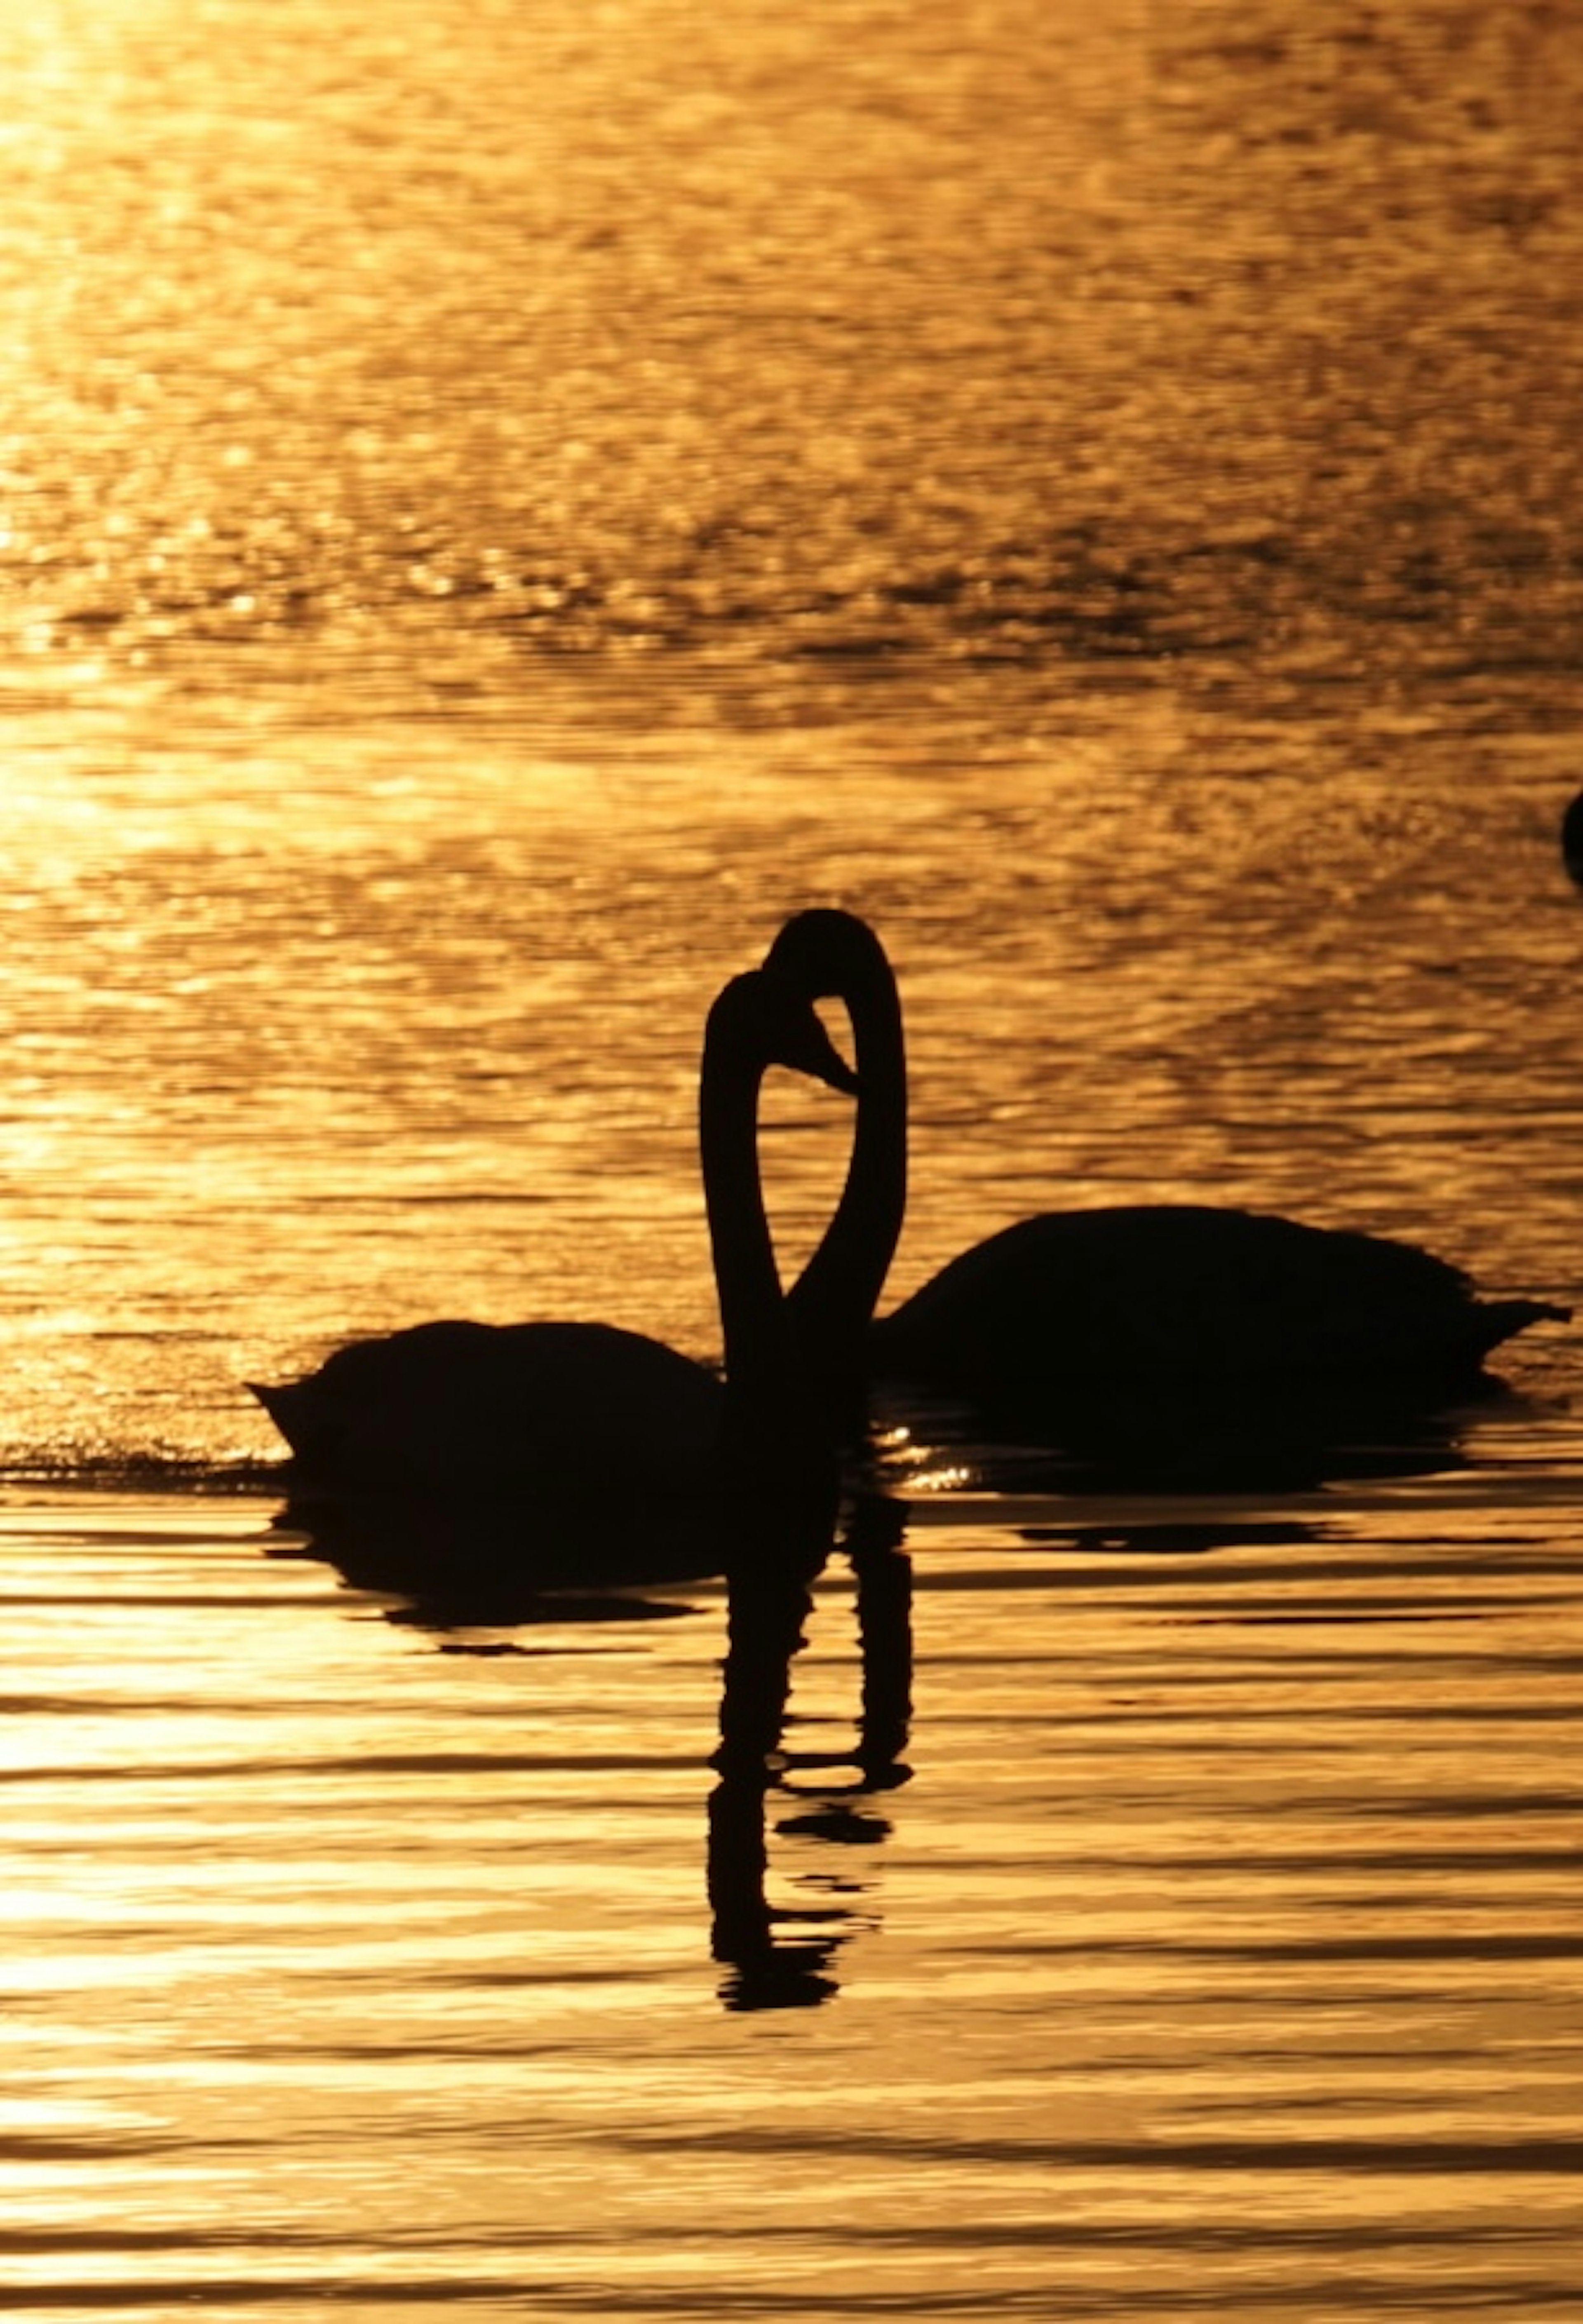
{"label": "smoother golden water with long horizontal ripples in front of the swans", "polygon": [[1576,1478],[1483,1450],[930,1499],[728,1808],[718,1587],[430,1629],[258,1504],[9,1511],[14,2310],[1567,2312]]}

